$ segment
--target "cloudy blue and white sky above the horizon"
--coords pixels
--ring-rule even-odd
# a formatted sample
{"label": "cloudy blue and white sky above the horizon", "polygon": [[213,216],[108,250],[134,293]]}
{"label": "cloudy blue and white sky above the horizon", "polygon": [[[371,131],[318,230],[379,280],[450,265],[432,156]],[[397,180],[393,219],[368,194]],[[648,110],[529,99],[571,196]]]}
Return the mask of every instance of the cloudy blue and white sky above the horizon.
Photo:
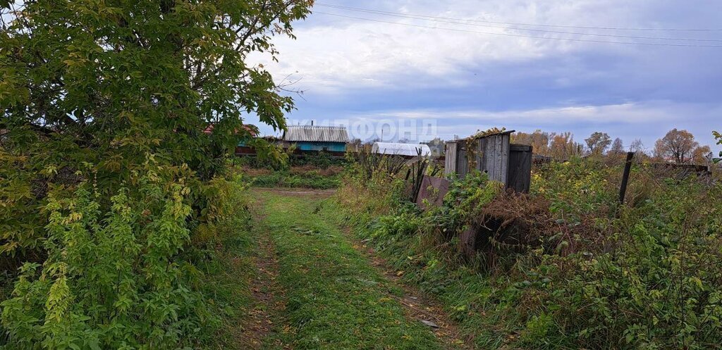
{"label": "cloudy blue and white sky above the horizon", "polygon": [[719,0],[324,0],[294,35],[274,38],[279,63],[250,57],[303,91],[287,92],[294,125],[384,141],[603,131],[649,150],[671,128],[710,146],[722,129]]}

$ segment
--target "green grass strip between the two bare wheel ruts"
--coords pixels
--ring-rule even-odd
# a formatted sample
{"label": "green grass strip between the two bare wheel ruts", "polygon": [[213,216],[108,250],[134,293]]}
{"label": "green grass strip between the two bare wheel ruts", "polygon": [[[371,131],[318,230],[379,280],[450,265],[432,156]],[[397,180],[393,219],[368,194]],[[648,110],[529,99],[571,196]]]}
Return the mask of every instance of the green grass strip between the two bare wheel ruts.
{"label": "green grass strip between the two bare wheel ruts", "polygon": [[425,325],[404,317],[401,290],[383,279],[339,229],[340,211],[310,196],[265,198],[264,228],[285,289],[281,333],[294,349],[442,349]]}

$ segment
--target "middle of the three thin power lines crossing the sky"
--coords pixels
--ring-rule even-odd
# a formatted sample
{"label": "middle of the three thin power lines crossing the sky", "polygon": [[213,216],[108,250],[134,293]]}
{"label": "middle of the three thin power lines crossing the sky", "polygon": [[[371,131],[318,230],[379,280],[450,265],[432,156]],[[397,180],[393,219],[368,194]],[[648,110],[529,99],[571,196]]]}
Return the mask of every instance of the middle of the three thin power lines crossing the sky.
{"label": "middle of the three thin power lines crossing the sky", "polygon": [[[330,7],[333,9],[341,9],[341,10],[346,10],[346,11],[362,12],[362,13],[367,13],[367,14],[380,14],[382,16],[400,17],[400,18],[409,18],[409,19],[421,19],[421,20],[425,20],[425,21],[451,23],[454,25],[471,25],[471,26],[475,26],[475,27],[488,27],[488,28],[508,29],[508,30],[525,30],[525,31],[529,31],[529,32],[548,32],[548,33],[553,33],[553,34],[587,35],[587,36],[602,37],[602,38],[627,38],[627,39],[642,39],[642,40],[681,40],[681,41],[722,43],[721,39],[648,37],[648,36],[639,36],[639,35],[599,34],[599,33],[589,33],[589,32],[564,32],[564,31],[560,31],[560,30],[515,28],[515,27],[503,27],[503,26],[499,26],[499,25],[480,25],[478,23],[458,22],[458,21],[471,21],[470,19],[445,20],[445,19],[436,19],[436,18],[429,17],[429,16],[422,16],[422,15],[418,15],[418,14],[402,14],[399,12],[386,12],[386,11],[378,11],[378,10],[372,10],[372,9],[358,9],[355,7],[348,7],[348,6],[323,5],[323,4],[321,4],[321,6],[326,6],[326,7]],[[471,21],[471,22],[473,22],[473,21]]]}

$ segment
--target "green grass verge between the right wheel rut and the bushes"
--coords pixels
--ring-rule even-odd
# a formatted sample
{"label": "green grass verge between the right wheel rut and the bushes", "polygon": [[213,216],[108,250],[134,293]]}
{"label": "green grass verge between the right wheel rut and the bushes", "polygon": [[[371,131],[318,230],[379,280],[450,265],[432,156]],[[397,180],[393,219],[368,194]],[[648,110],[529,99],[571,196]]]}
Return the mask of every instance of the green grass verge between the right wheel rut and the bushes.
{"label": "green grass verge between the right wheel rut and the bushes", "polygon": [[[471,343],[474,349],[505,349],[513,342],[510,335],[517,338],[531,336],[525,328],[518,328],[526,316],[514,309],[520,302],[518,295],[498,290],[499,283],[495,284],[492,277],[479,274],[474,267],[450,263],[437,251],[429,250],[421,235],[387,240],[375,238],[373,234],[372,231],[357,230],[357,237],[372,240],[377,253],[386,258],[390,266],[404,271],[402,280],[405,283],[440,302],[461,333],[474,338]],[[499,294],[505,297],[492,297]],[[564,344],[539,346],[542,348],[573,349]]]}

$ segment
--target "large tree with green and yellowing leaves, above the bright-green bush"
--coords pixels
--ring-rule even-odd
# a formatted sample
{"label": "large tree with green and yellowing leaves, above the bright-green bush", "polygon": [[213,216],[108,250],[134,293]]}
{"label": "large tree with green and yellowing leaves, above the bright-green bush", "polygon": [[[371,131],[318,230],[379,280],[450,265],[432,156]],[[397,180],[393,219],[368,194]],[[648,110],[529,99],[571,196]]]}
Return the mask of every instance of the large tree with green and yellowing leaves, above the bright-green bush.
{"label": "large tree with green and yellowing leaves, above the bright-green bush", "polygon": [[[95,165],[104,195],[142,168],[147,154],[188,165],[201,180],[222,172],[225,157],[253,131],[243,127],[246,115],[285,127],[292,99],[246,58],[277,59],[271,37],[292,36],[292,22],[311,4],[0,1],[0,198],[12,202],[0,209],[0,224],[22,224],[5,218],[37,208],[53,186],[84,180],[76,172],[85,164]],[[280,154],[260,139],[253,146]]]}

